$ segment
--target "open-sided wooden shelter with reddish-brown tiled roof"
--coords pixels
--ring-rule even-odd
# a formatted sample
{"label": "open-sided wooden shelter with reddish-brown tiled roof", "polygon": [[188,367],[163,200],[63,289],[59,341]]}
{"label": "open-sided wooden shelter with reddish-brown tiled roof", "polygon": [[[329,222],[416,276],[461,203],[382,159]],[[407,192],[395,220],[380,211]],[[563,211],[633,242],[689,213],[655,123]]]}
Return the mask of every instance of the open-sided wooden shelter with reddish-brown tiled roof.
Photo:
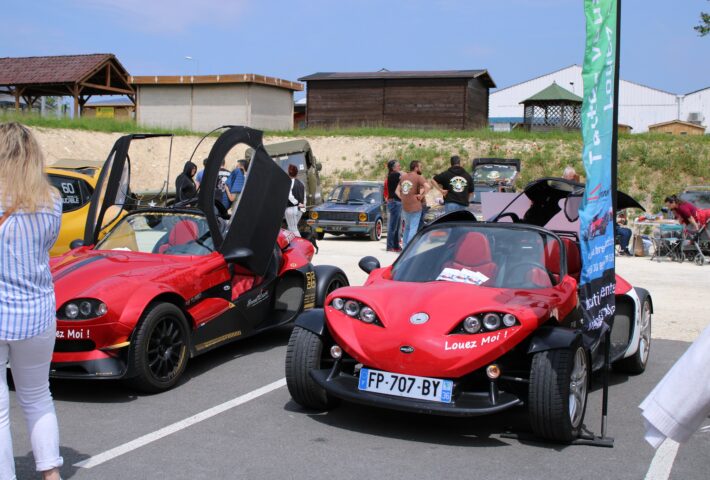
{"label": "open-sided wooden shelter with reddish-brown tiled roof", "polygon": [[40,97],[71,96],[75,117],[94,95],[126,95],[135,104],[129,74],[110,53],[0,58],[0,93],[15,97],[15,110],[20,99],[32,108]]}

